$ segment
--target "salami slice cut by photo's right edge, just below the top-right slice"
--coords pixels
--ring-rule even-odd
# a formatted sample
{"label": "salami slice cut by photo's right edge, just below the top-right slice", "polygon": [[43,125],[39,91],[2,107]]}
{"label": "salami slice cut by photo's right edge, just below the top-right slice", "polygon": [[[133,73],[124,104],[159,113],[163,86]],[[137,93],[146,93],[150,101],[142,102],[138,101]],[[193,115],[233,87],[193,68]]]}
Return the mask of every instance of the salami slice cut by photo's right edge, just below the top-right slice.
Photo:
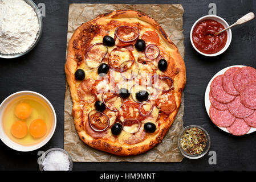
{"label": "salami slice cut by photo's right edge, just below the top-right slice", "polygon": [[256,81],[249,82],[241,92],[242,104],[250,109],[256,109]]}

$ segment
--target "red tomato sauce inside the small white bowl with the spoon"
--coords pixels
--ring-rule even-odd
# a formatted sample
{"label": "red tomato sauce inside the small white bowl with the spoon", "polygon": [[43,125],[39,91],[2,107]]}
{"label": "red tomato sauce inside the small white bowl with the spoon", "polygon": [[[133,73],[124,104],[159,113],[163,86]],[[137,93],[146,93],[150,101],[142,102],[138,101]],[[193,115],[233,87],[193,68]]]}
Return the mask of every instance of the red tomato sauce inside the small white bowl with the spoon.
{"label": "red tomato sauce inside the small white bowl with the spoon", "polygon": [[194,27],[192,38],[196,48],[203,53],[217,53],[225,47],[227,32],[214,36],[214,33],[223,30],[225,27],[216,20],[203,20]]}

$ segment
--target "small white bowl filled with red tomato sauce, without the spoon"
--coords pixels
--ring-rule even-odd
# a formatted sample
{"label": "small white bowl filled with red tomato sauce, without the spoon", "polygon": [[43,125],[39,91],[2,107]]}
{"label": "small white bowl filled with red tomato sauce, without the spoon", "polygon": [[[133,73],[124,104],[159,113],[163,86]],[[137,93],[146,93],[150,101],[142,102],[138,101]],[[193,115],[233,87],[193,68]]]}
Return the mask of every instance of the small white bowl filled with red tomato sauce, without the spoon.
{"label": "small white bowl filled with red tomato sauce, without the spoon", "polygon": [[229,27],[229,24],[220,16],[202,16],[191,28],[190,41],[192,46],[204,56],[220,55],[229,47],[232,33],[229,29],[221,34],[214,34],[226,27]]}

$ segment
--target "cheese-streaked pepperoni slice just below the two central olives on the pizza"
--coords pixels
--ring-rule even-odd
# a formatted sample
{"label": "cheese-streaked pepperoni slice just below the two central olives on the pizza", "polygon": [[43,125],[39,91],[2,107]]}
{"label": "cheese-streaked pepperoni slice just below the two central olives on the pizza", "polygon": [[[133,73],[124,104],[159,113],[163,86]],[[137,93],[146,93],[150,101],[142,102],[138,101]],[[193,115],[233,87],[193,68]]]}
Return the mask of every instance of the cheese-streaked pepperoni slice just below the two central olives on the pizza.
{"label": "cheese-streaked pepperoni slice just below the two central olives on the pizza", "polygon": [[139,107],[140,103],[131,100],[124,101],[123,106],[121,106],[121,109],[119,110],[119,119],[124,121],[125,119],[136,118],[139,121],[142,121],[145,117],[140,115]]}

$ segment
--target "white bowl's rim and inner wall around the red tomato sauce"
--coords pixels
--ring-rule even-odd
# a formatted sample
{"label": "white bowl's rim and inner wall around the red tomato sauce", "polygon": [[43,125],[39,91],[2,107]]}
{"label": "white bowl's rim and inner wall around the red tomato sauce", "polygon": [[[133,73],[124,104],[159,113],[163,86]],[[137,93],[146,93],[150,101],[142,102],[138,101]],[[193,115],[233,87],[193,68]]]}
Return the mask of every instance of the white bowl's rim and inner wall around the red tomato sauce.
{"label": "white bowl's rim and inner wall around the red tomato sauce", "polygon": [[206,16],[202,16],[201,18],[199,18],[196,22],[194,22],[191,30],[190,30],[190,42],[192,44],[192,46],[194,47],[194,49],[196,49],[197,52],[201,53],[201,55],[204,55],[204,56],[218,56],[220,55],[221,53],[225,52],[226,49],[229,47],[230,43],[231,43],[231,39],[232,39],[232,33],[231,33],[231,29],[229,30],[226,30],[227,32],[227,42],[226,42],[226,45],[224,48],[221,49],[221,51],[217,52],[217,53],[204,53],[204,52],[201,52],[199,51],[196,46],[194,46],[194,43],[193,43],[193,38],[192,38],[192,34],[193,34],[193,30],[194,30],[194,27],[197,25],[197,23],[200,23],[202,22],[202,20],[206,20],[206,19],[211,19],[211,20],[216,20],[217,22],[221,23],[225,28],[226,27],[229,27],[229,24],[227,24],[227,22],[221,18],[220,16],[216,16],[216,15],[206,15]]}

